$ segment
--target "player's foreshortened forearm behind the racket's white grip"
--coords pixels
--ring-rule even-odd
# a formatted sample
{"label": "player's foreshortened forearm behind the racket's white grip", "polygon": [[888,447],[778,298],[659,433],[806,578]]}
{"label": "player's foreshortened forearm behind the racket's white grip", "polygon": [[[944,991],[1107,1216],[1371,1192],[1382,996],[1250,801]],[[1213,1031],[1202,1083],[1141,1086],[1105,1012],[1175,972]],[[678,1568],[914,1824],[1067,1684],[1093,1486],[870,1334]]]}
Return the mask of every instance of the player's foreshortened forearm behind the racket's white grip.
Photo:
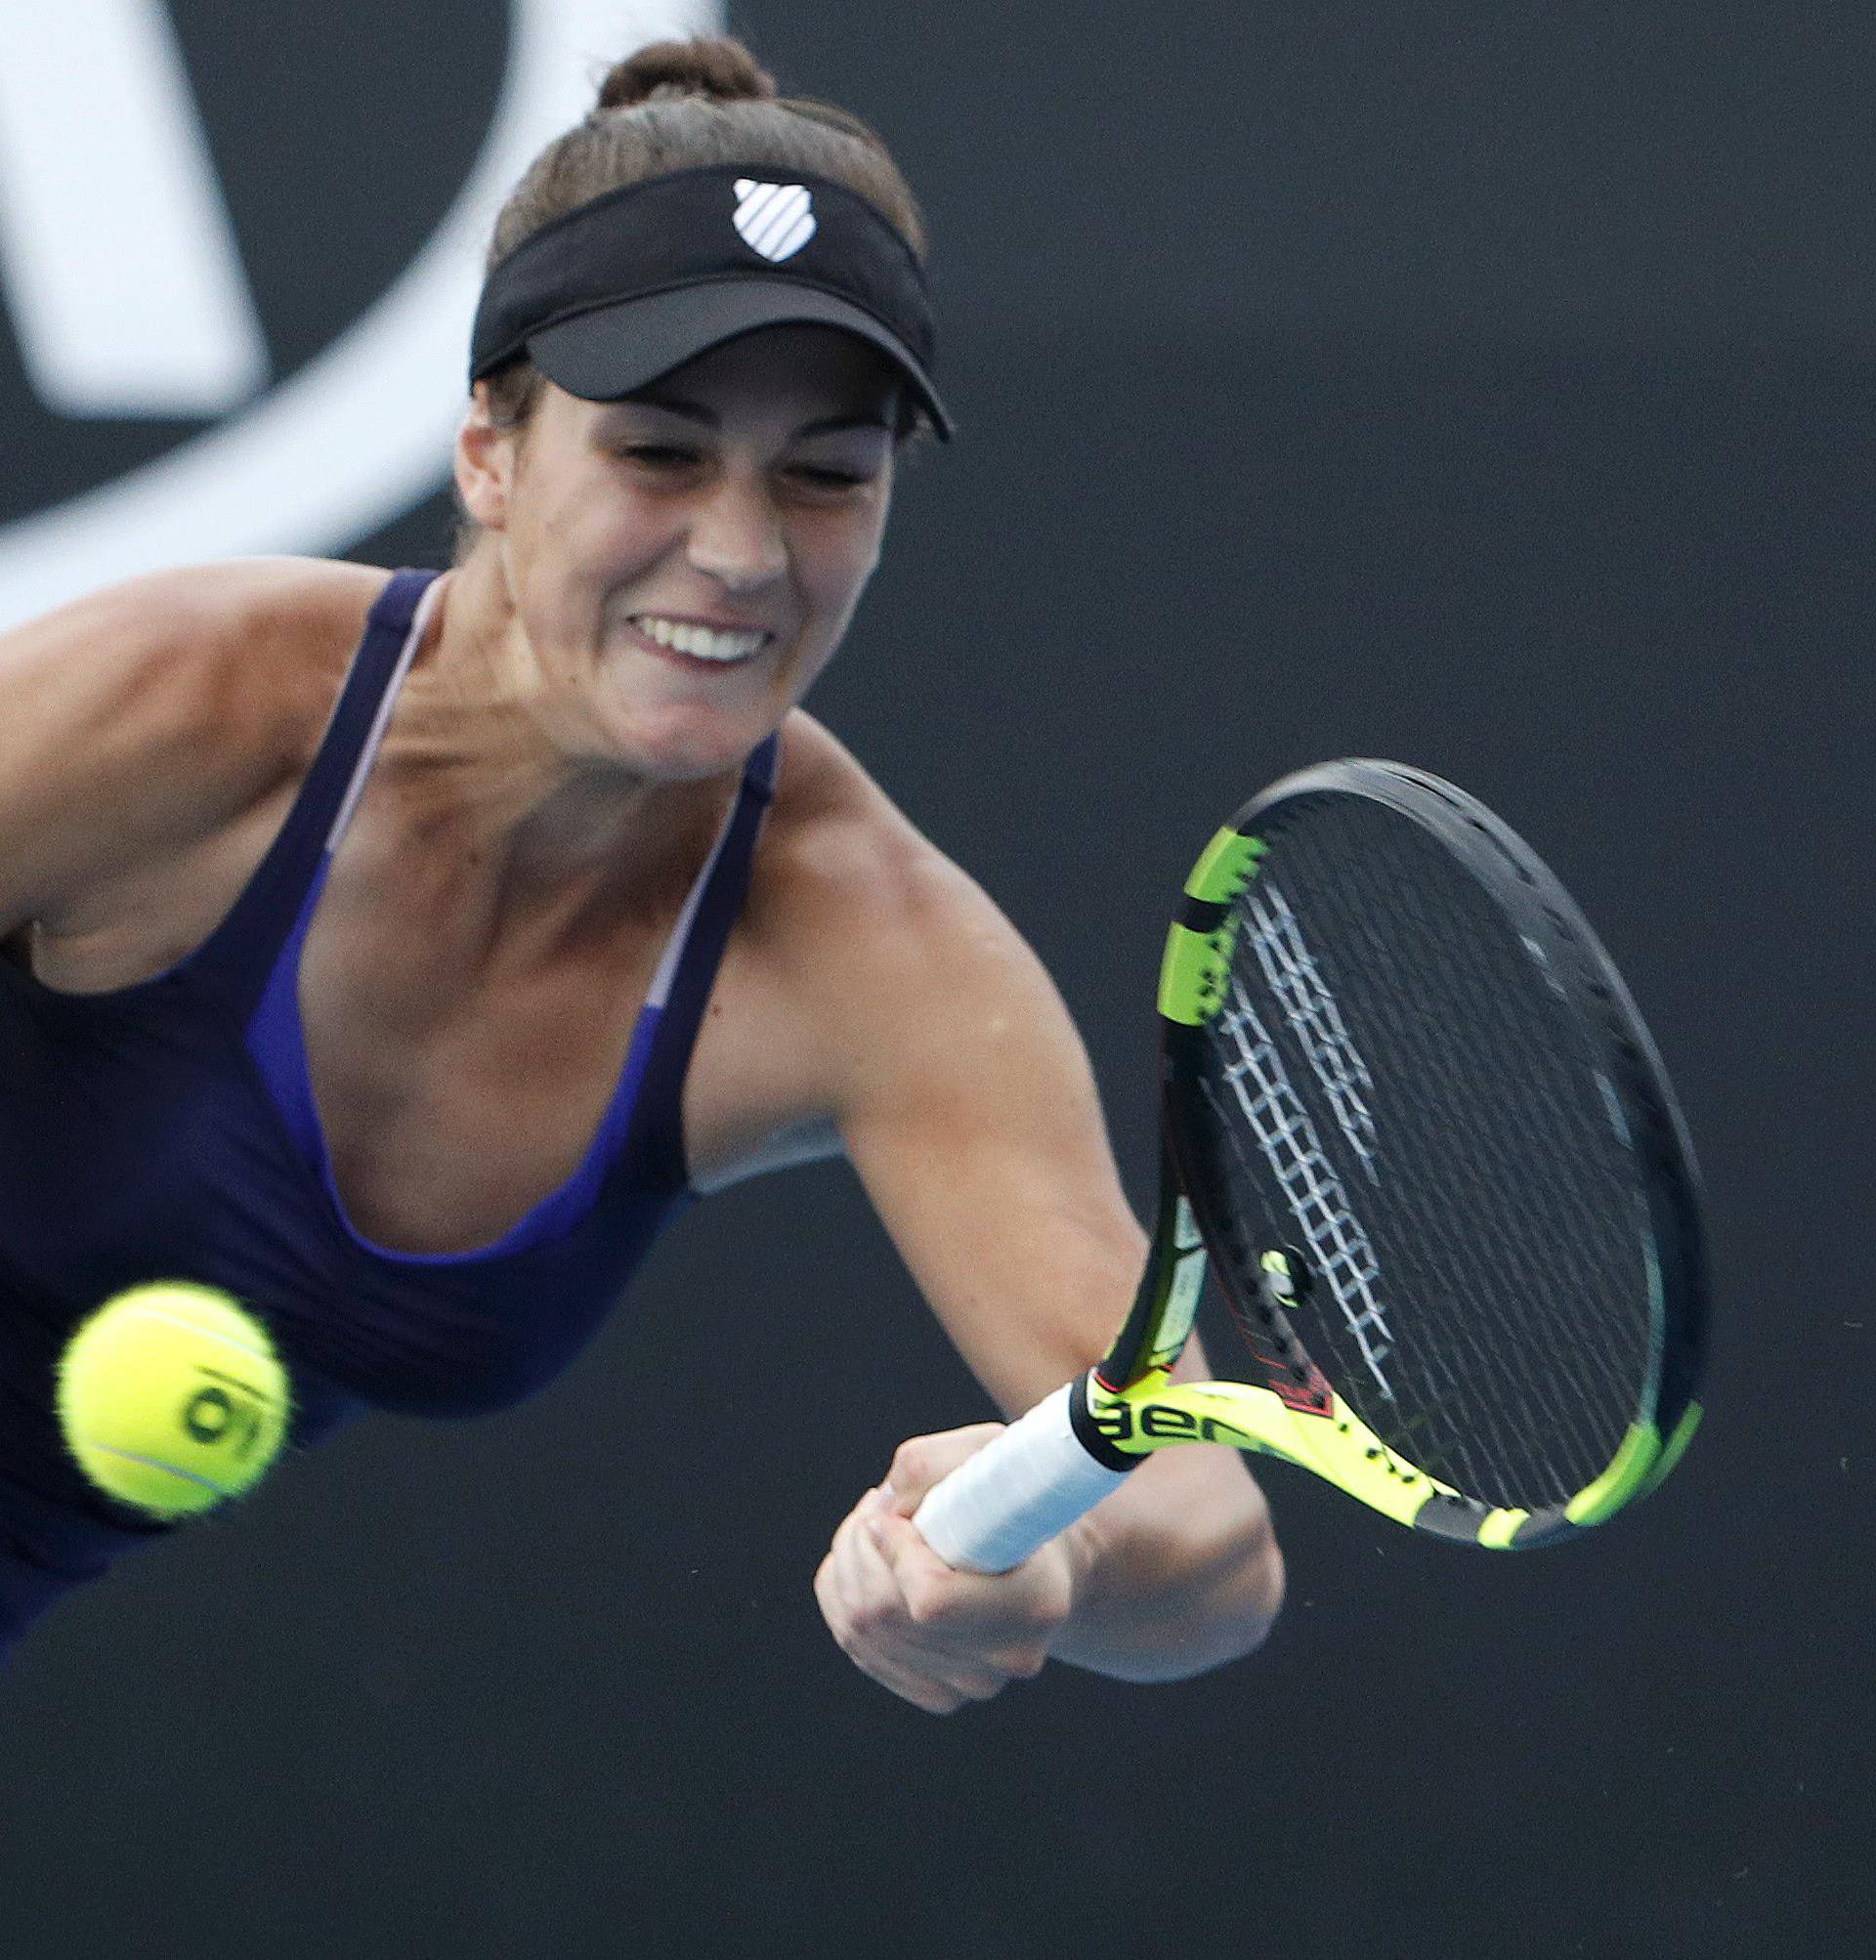
{"label": "player's foreshortened forearm behind the racket's white grip", "polygon": [[1174,1682],[1268,1635],[1284,1562],[1262,1494],[1235,1456],[1176,1450],[1131,1474],[1064,1535],[1074,1603],[1057,1660],[1125,1682]]}

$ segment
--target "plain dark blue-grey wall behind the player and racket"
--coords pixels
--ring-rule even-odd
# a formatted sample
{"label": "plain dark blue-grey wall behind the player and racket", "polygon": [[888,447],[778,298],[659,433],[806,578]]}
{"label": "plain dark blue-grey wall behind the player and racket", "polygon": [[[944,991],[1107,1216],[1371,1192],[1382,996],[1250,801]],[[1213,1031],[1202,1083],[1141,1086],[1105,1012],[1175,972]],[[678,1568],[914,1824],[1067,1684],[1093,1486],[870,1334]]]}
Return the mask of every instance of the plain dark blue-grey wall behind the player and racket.
{"label": "plain dark blue-grey wall behind the player and racket", "polygon": [[[255,102],[343,74],[329,12]],[[486,116],[482,12],[494,41],[431,47],[414,159]],[[267,59],[227,14],[176,4],[206,94]],[[0,1946],[1870,1950],[1876,18],[733,22],[892,139],[963,423],[815,708],[1057,974],[1137,1201],[1198,843],[1308,760],[1431,766],[1537,843],[1674,1070],[1705,1429],[1658,1497],[1527,1558],[1274,1466],[1259,1656],[1057,1666],[933,1721],[841,1658],[810,1580],[904,1435],[988,1407],[851,1176],[765,1180],[535,1403],[369,1421],[27,1642]],[[441,504],[359,545],[445,551]]]}

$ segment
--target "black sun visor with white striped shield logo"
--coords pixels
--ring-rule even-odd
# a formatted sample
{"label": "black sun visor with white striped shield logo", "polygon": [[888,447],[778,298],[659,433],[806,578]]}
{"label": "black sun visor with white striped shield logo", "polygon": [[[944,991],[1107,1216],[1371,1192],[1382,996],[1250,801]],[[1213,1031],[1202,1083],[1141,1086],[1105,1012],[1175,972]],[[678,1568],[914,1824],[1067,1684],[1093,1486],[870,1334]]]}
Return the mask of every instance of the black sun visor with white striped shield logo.
{"label": "black sun visor with white striped shield logo", "polygon": [[469,378],[525,353],[568,394],[617,402],[741,333],[798,323],[870,341],[951,437],[912,247],[845,184],[761,165],[627,184],[523,239],[482,288]]}

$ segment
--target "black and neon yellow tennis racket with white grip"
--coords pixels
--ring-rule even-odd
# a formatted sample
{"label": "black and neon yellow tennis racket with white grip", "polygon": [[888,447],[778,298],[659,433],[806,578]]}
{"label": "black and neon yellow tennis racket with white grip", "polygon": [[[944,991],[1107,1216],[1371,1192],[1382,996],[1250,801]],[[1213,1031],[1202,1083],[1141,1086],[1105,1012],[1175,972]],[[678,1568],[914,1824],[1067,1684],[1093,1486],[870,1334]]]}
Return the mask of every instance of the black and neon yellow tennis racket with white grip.
{"label": "black and neon yellow tennis racket with white grip", "polygon": [[[1133,1309],[929,1492],[947,1564],[1004,1572],[1190,1443],[1492,1548],[1672,1470],[1700,1421],[1694,1151],[1607,953],[1498,817],[1396,762],[1286,776],[1186,880],[1159,1013]],[[1208,1262],[1245,1380],[1170,1382]]]}

